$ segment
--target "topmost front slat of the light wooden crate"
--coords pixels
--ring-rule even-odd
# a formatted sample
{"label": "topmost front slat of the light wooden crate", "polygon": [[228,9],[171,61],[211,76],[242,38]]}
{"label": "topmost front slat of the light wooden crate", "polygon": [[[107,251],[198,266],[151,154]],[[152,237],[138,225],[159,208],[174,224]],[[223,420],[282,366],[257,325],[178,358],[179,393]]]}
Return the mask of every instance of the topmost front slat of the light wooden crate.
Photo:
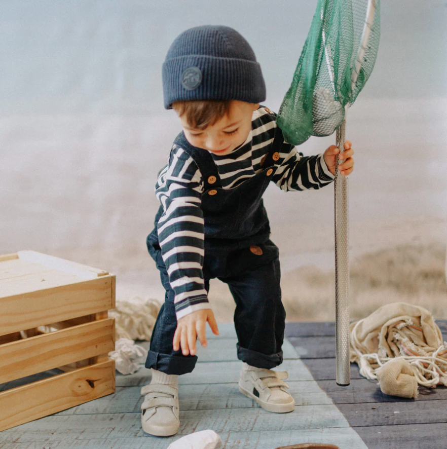
{"label": "topmost front slat of the light wooden crate", "polygon": [[113,277],[0,297],[0,335],[111,309]]}

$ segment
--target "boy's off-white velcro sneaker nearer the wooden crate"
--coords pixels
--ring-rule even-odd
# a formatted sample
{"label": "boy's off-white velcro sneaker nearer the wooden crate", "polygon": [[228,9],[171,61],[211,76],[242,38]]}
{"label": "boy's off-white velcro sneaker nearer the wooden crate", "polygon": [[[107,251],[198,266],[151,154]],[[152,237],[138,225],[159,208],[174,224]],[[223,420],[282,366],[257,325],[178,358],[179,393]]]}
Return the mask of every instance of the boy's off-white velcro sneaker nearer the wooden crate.
{"label": "boy's off-white velcro sneaker nearer the wooden crate", "polygon": [[178,389],[170,385],[150,384],[141,388],[141,427],[155,436],[175,435],[180,426]]}

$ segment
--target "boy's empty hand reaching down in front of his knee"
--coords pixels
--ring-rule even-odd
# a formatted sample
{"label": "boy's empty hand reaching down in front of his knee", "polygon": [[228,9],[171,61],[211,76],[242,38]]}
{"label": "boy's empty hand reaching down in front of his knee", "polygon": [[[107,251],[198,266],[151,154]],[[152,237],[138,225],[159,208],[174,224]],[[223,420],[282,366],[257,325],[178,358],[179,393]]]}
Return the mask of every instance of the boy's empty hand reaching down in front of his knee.
{"label": "boy's empty hand reaching down in front of his knee", "polygon": [[206,347],[205,330],[207,321],[213,333],[218,335],[219,329],[217,329],[217,323],[211,309],[198,310],[180,318],[177,321],[177,329],[175,329],[172,342],[174,351],[178,351],[180,345],[183,355],[196,355],[197,337],[199,337],[202,346]]}

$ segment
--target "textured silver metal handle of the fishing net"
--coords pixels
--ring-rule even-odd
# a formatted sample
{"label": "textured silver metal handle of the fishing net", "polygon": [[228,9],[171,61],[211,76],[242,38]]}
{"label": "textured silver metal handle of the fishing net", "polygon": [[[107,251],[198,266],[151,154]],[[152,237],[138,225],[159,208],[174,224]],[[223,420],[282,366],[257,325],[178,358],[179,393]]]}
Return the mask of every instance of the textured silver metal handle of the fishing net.
{"label": "textured silver metal handle of the fishing net", "polygon": [[[345,151],[346,114],[343,124],[337,129],[336,145],[340,153]],[[349,362],[349,211],[348,179],[339,174],[339,158],[336,162],[334,181],[335,218],[335,273],[336,273],[336,382],[348,386],[351,383]]]}

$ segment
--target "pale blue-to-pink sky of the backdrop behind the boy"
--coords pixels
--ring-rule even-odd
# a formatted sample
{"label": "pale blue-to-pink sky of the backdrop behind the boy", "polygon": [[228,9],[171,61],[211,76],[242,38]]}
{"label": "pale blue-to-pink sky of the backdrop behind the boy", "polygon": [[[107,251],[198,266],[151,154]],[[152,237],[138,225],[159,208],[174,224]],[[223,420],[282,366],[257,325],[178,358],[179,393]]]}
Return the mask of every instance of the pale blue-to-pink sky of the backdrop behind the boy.
{"label": "pale blue-to-pink sky of the backdrop behind the boy", "polygon": [[[0,7],[0,254],[34,249],[117,273],[159,294],[145,237],[154,184],[180,131],[163,108],[173,39],[234,27],[253,47],[278,110],[315,0],[4,0]],[[376,66],[348,113],[353,256],[445,241],[447,2],[382,2]],[[335,136],[301,145],[317,154]],[[333,188],[265,195],[283,270],[333,266]],[[157,285],[157,286],[155,286]],[[124,288],[124,287],[123,287]]]}

